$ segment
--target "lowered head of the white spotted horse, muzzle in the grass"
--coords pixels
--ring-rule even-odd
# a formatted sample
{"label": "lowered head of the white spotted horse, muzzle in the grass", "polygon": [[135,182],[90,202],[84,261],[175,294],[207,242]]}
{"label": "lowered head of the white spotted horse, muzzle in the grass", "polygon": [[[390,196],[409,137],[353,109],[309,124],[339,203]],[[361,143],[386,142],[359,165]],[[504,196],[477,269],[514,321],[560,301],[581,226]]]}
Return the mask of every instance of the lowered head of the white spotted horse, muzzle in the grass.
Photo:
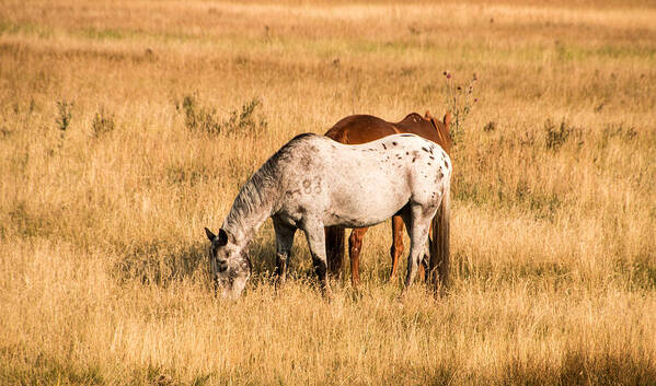
{"label": "lowered head of the white spotted horse, muzzle in the grass", "polygon": [[209,265],[217,292],[223,297],[239,297],[251,277],[249,252],[237,245],[234,237],[222,229],[218,235],[207,227],[205,233],[211,242]]}

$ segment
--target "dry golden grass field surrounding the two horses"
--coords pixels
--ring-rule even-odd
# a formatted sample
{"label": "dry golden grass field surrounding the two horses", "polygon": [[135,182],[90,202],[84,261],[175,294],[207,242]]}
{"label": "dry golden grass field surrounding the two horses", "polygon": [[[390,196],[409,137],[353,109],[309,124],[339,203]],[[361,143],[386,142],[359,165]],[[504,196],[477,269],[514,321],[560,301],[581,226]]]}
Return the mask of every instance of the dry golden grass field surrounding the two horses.
{"label": "dry golden grass field surrounding the two horses", "polygon": [[[0,383],[656,384],[653,1],[0,1]],[[452,285],[389,223],[322,299],[215,299],[204,226],[280,145],[452,109]],[[406,243],[406,245],[408,245]],[[402,269],[404,269],[404,264]]]}

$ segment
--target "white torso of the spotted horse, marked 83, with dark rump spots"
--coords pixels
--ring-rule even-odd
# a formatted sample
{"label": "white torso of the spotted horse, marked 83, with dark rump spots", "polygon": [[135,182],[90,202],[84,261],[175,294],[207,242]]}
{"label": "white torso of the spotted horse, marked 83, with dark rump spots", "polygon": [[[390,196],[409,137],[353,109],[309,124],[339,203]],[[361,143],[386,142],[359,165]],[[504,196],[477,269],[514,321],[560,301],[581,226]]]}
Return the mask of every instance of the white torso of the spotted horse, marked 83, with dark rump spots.
{"label": "white torso of the spotted horse, marked 83, with dark rump spots", "polygon": [[281,207],[296,222],[314,213],[325,225],[380,223],[414,200],[439,206],[450,160],[436,143],[395,134],[358,145],[320,136],[296,139],[283,173]]}

